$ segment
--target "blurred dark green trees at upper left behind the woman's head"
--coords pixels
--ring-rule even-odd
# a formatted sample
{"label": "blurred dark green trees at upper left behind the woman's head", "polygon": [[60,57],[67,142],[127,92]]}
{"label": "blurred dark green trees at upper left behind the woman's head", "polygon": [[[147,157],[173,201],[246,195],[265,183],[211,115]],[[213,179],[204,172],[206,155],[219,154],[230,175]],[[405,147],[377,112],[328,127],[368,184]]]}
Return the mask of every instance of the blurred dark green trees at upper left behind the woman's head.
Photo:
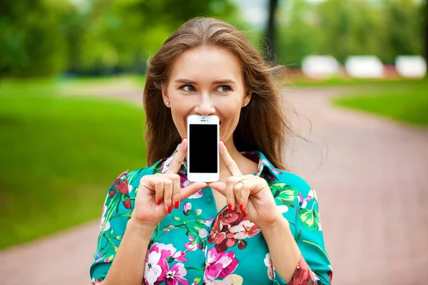
{"label": "blurred dark green trees at upper left behind the woman's head", "polygon": [[225,0],[4,0],[0,76],[144,71],[148,56],[195,16],[245,26]]}

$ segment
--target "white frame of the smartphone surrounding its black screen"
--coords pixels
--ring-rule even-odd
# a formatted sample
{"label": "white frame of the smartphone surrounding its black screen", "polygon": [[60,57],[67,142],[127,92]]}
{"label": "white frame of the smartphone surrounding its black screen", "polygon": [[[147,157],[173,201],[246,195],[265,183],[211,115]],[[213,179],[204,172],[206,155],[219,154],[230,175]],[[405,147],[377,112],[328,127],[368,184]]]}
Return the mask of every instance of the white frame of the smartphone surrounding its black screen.
{"label": "white frame of the smartphone surrounding its black screen", "polygon": [[[217,125],[217,172],[215,173],[200,173],[190,172],[190,147],[191,136],[197,135],[190,133],[190,125]],[[187,136],[188,136],[188,150],[187,150],[187,162],[188,162],[188,180],[191,182],[216,182],[220,179],[220,154],[218,153],[218,141],[220,140],[220,120],[216,115],[202,116],[202,115],[190,115],[187,119]]]}

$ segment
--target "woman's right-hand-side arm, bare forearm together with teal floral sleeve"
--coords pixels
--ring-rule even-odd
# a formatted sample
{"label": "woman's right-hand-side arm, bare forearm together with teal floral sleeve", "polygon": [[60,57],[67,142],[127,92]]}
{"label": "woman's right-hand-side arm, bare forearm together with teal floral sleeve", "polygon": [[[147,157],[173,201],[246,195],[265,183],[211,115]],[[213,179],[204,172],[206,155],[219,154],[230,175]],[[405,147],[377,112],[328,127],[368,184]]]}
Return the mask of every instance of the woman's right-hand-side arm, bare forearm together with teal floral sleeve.
{"label": "woman's right-hand-side arm, bare forearm together with teal floral sleeve", "polygon": [[315,190],[298,200],[297,216],[291,223],[295,224],[294,234],[282,215],[260,227],[275,269],[275,284],[331,284],[332,267],[325,252]]}

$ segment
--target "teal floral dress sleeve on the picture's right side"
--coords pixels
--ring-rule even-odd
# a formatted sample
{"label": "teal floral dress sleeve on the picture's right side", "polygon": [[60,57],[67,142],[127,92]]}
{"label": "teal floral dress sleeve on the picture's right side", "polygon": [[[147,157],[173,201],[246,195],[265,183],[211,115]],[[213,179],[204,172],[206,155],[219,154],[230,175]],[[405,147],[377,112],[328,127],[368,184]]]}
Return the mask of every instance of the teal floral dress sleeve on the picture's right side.
{"label": "teal floral dress sleeve on the picture's right side", "polygon": [[275,278],[273,284],[331,285],[332,266],[325,251],[315,190],[311,189],[306,197],[299,195],[297,196],[295,240],[302,256],[296,264],[295,272],[288,283],[274,270]]}

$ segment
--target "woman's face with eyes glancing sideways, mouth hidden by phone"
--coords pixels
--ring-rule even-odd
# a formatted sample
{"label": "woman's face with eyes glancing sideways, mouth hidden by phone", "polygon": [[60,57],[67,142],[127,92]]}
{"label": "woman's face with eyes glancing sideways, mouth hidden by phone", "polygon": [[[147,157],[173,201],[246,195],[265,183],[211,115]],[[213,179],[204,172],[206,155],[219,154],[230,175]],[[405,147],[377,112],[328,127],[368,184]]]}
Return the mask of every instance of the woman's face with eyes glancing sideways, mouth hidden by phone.
{"label": "woman's face with eyes glancing sideways, mouth hidden by phone", "polygon": [[187,136],[189,115],[217,115],[220,138],[225,142],[238,125],[241,108],[248,105],[251,98],[245,94],[238,58],[219,47],[185,51],[173,63],[162,94],[182,138]]}

